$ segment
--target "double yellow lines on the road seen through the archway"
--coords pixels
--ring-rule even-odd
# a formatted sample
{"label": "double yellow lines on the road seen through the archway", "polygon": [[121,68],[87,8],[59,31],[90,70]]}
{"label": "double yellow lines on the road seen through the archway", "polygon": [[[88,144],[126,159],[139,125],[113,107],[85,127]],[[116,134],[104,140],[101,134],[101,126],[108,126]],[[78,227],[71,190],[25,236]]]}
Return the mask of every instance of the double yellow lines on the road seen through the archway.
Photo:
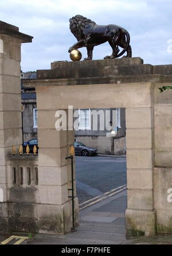
{"label": "double yellow lines on the road seen through the archway", "polygon": [[89,199],[89,200],[84,201],[83,203],[79,204],[79,209],[83,210],[84,208],[86,208],[86,207],[88,207],[88,206],[90,206],[92,204],[98,203],[99,201],[101,201],[103,199],[106,199],[106,198],[108,198],[110,196],[114,196],[115,194],[117,194],[119,192],[122,192],[125,189],[127,189],[127,185],[122,185],[122,186],[120,186],[118,188],[112,189],[111,191],[105,192],[101,196],[93,197],[92,199]]}

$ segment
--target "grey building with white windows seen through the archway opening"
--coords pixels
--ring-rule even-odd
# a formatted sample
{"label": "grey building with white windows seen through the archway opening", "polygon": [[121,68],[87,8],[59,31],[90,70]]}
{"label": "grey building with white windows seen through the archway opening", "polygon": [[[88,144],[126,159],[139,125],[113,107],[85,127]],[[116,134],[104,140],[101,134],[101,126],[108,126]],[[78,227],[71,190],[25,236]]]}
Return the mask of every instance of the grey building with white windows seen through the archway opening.
{"label": "grey building with white windows seen through the archway opening", "polygon": [[[97,120],[97,130],[93,130],[93,115],[91,113],[94,111],[97,114],[95,118]],[[107,118],[107,113],[110,113],[109,118]],[[107,130],[105,119],[108,122],[107,126],[110,125],[112,127],[113,119],[115,119],[114,128],[116,133],[114,135],[111,134],[111,131]],[[125,120],[124,108],[103,108],[101,110],[88,108],[79,110],[80,127],[78,131],[75,131],[75,139],[87,146],[98,149],[101,154],[126,154]],[[103,127],[100,127],[102,124]]]}

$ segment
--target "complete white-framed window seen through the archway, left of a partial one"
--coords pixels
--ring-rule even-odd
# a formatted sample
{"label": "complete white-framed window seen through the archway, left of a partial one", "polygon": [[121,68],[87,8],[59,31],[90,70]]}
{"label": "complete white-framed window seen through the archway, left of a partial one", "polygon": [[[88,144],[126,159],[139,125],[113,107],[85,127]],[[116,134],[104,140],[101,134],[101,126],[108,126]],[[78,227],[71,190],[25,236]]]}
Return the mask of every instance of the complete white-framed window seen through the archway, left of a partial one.
{"label": "complete white-framed window seen through the archway, left of a partial one", "polygon": [[90,108],[79,108],[79,130],[91,130]]}

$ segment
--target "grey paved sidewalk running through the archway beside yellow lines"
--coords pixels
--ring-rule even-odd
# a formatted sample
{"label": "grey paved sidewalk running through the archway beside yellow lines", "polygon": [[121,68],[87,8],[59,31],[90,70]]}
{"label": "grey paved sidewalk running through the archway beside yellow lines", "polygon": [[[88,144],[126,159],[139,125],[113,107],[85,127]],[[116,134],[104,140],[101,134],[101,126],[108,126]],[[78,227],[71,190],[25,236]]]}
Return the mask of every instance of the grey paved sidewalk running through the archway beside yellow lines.
{"label": "grey paved sidewalk running through the archway beside yellow lines", "polygon": [[[37,234],[30,245],[119,245],[126,243],[127,191],[80,211],[80,226],[67,235]],[[128,241],[129,242],[129,241]]]}

